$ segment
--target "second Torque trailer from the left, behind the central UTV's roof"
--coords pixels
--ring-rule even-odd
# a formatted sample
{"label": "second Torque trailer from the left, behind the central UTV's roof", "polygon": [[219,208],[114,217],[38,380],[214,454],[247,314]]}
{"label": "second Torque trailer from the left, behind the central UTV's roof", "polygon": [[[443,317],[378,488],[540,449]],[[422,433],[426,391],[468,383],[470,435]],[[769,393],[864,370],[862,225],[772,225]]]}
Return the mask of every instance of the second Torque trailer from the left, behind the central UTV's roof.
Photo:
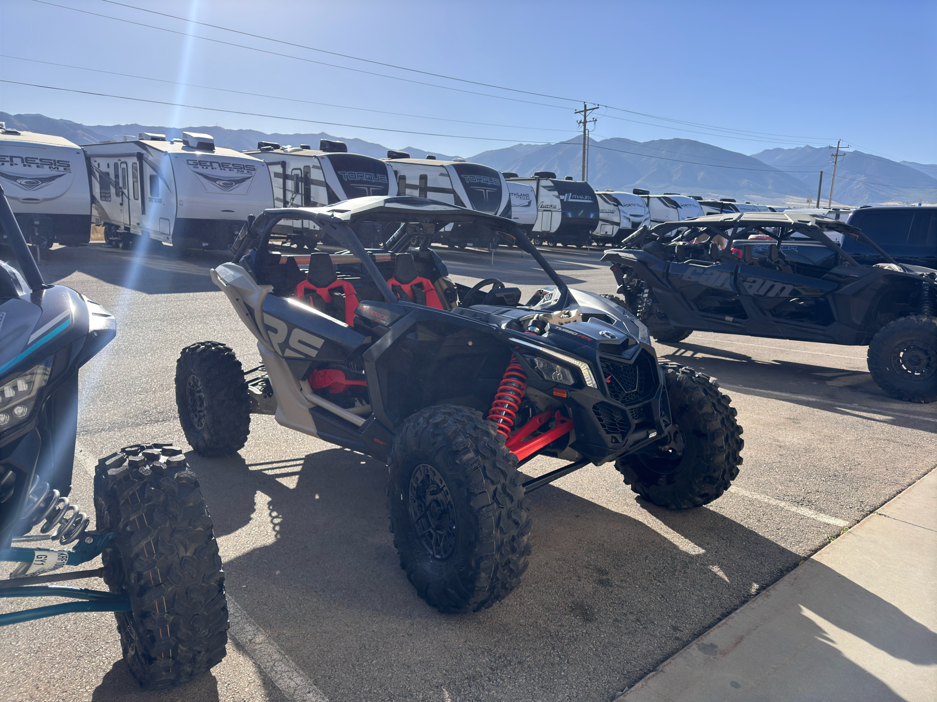
{"label": "second Torque trailer from the left, behind the central UTV's roof", "polygon": [[[394,168],[397,195],[411,195],[459,205],[476,212],[511,219],[511,195],[504,176],[494,168],[462,159],[441,161],[436,156],[410,158],[407,152],[387,152]],[[433,241],[447,246],[489,247],[497,244],[498,233],[482,226],[448,225]]]}

